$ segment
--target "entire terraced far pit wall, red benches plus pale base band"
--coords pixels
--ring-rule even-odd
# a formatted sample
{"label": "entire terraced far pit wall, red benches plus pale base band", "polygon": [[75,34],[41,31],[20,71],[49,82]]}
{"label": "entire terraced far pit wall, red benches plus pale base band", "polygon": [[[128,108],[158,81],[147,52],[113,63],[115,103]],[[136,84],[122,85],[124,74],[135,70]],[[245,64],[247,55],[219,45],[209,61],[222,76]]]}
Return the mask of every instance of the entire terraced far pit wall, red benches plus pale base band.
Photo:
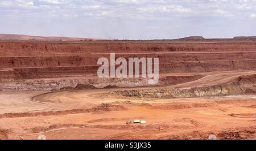
{"label": "entire terraced far pit wall, red benches plus pale base band", "polygon": [[[256,69],[256,43],[251,41],[0,42],[0,90],[147,85],[147,79],[98,79],[97,60],[109,58],[110,52],[116,58],[158,57],[160,74]],[[168,76],[159,85],[195,79]]]}

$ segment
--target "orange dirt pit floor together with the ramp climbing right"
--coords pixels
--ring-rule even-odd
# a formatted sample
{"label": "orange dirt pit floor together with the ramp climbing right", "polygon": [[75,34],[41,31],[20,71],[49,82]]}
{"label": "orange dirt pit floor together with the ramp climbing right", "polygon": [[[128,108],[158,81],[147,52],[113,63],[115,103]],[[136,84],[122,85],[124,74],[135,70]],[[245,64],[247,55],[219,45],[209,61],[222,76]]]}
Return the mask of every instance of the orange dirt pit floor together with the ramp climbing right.
{"label": "orange dirt pit floor together with the ramp climbing right", "polygon": [[[255,139],[253,106],[256,105],[256,97],[249,95],[150,100],[133,98],[130,100],[133,102],[131,104],[117,103],[125,107],[124,110],[96,113],[68,112],[73,109],[89,109],[101,103],[127,101],[127,98],[104,96],[104,93],[115,90],[204,87],[229,83],[241,75],[256,74],[256,71],[201,74],[204,77],[195,81],[154,88],[0,93],[0,115],[4,113],[20,115],[20,117],[9,116],[0,119],[0,131],[12,130],[8,135],[5,133],[3,135],[8,139],[20,139],[20,137],[37,139],[41,132],[47,139],[207,139],[208,133],[220,134],[218,137],[225,139],[229,137],[229,133],[236,130],[239,135],[234,139]],[[32,97],[34,99],[31,99]],[[142,102],[150,103],[152,107],[143,105]],[[48,111],[54,114],[35,114]],[[59,114],[58,111],[67,111],[67,114]],[[35,115],[22,115],[27,112]],[[144,119],[147,124],[143,128],[137,125],[127,126],[125,123],[129,118]],[[164,130],[159,130],[159,127]]]}

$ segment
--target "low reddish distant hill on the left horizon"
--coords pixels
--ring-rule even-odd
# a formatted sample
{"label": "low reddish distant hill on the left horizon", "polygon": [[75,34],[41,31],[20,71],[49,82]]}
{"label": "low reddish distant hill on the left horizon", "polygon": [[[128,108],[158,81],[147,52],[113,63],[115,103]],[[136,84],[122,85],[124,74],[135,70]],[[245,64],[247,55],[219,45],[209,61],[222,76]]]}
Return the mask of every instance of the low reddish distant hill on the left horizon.
{"label": "low reddish distant hill on the left horizon", "polygon": [[1,34],[0,40],[36,40],[36,41],[81,41],[81,40],[100,40],[94,38],[77,38],[77,37],[44,37],[29,36],[25,34]]}

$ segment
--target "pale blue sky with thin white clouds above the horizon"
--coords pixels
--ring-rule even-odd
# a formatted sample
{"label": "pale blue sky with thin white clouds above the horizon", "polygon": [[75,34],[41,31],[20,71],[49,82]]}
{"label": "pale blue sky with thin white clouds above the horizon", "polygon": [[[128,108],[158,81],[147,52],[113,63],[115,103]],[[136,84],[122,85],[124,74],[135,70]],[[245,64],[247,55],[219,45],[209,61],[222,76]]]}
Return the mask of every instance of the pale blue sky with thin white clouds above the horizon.
{"label": "pale blue sky with thin white clouds above the horizon", "polygon": [[0,33],[110,39],[256,36],[256,0],[0,0]]}

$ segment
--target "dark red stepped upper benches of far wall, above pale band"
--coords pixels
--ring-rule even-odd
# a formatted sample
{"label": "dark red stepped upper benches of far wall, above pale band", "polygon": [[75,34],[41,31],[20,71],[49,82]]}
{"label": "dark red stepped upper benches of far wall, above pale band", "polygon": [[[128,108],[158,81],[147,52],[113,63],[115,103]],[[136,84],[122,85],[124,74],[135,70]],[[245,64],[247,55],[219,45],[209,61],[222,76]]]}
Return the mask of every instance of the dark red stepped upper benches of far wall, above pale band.
{"label": "dark red stepped upper benches of far wall, above pale band", "polygon": [[160,73],[252,70],[255,50],[255,42],[0,42],[0,79],[64,77],[71,71],[95,75],[97,59],[109,58],[110,52],[125,53],[116,54],[125,58],[159,57]]}

